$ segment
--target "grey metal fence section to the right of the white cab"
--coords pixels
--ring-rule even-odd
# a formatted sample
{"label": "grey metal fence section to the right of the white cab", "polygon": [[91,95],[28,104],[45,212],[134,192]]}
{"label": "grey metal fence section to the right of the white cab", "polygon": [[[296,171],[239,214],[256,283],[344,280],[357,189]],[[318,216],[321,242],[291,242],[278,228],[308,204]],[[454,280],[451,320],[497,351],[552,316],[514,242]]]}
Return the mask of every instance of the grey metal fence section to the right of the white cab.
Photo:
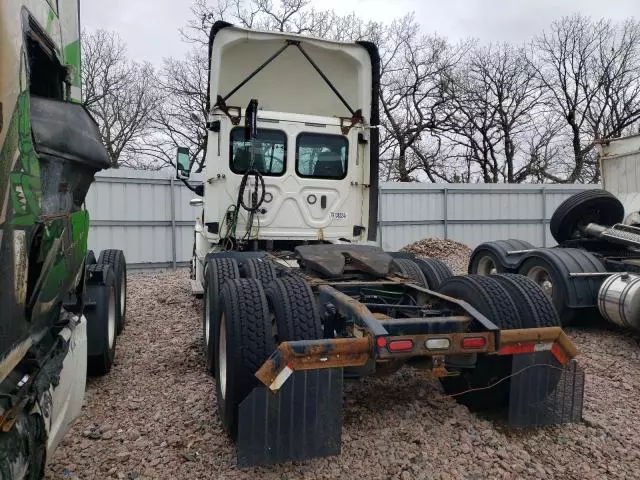
{"label": "grey metal fence section to the right of the white cab", "polygon": [[428,237],[476,247],[506,238],[553,246],[549,220],[567,197],[599,185],[468,185],[384,183],[379,241],[397,250]]}

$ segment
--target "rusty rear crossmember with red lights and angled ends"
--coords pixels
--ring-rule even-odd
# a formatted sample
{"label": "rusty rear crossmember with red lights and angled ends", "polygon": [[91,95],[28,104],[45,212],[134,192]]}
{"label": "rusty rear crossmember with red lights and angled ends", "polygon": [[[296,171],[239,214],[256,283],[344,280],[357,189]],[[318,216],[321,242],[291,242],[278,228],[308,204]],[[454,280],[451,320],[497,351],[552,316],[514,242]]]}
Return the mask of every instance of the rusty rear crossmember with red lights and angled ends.
{"label": "rusty rear crossmember with red lights and angled ends", "polygon": [[[442,348],[447,341],[448,347]],[[408,348],[409,344],[411,348]],[[440,348],[430,348],[431,344]],[[404,349],[394,351],[393,345],[403,345]],[[519,355],[544,351],[550,352],[561,365],[578,354],[560,327],[304,340],[281,343],[256,372],[256,377],[275,392],[295,371],[362,367],[371,359],[408,360],[417,357],[432,357],[433,374],[442,377],[451,374],[444,366],[447,356]]]}

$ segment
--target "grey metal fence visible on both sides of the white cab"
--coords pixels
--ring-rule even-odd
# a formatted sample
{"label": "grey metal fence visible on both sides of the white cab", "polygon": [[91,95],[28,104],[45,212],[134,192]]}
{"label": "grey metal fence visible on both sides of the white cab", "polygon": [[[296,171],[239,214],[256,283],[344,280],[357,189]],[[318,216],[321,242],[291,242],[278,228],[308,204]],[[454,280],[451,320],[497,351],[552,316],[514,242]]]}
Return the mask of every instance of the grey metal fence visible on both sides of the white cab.
{"label": "grey metal fence visible on both sides of the white cab", "polygon": [[[124,168],[98,174],[87,196],[89,248],[96,253],[122,249],[131,269],[186,265],[202,209],[189,205],[195,195],[172,174]],[[592,188],[600,187],[384,183],[378,241],[386,250],[427,237],[472,248],[505,238],[552,246],[548,222],[555,208],[569,195]]]}

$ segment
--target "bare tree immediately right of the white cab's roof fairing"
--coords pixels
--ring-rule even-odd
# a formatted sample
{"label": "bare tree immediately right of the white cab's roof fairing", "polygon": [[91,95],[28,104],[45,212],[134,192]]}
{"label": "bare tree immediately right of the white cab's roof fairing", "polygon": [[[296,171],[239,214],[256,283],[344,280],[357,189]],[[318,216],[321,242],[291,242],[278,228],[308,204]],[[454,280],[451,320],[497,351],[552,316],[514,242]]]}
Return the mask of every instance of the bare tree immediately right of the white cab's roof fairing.
{"label": "bare tree immediately right of the white cab's roof fairing", "polygon": [[432,132],[442,121],[441,84],[465,47],[421,34],[413,15],[393,21],[381,40],[381,156],[387,175],[400,182],[425,175],[430,181],[442,180],[437,168],[442,144]]}

